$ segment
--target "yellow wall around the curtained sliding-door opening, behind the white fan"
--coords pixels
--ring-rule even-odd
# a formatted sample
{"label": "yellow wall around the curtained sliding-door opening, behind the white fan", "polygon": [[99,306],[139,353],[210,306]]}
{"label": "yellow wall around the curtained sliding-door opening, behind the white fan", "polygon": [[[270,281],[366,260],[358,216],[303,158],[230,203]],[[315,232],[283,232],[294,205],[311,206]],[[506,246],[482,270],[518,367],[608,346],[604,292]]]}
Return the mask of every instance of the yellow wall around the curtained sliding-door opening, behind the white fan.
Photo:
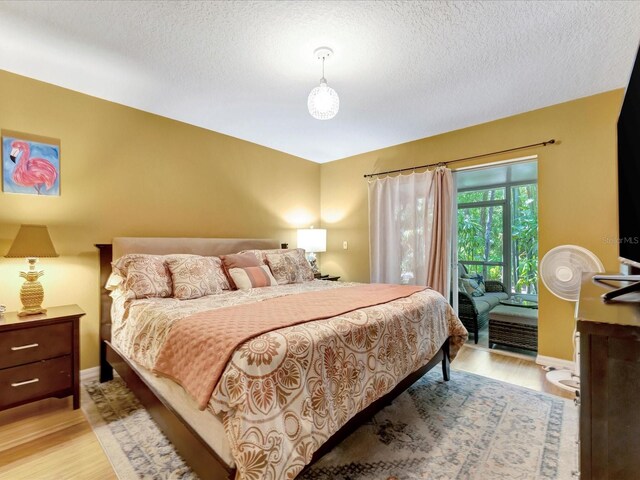
{"label": "yellow wall around the curtained sliding-door opening, behind the white fan", "polygon": [[[539,252],[575,244],[618,270],[615,127],[622,90],[554,105],[322,165],[326,273],[369,281],[367,181],[363,174],[446,161],[555,138],[557,145],[456,164],[538,155]],[[348,250],[342,249],[343,240]],[[540,286],[539,354],[570,359],[572,303]]]}

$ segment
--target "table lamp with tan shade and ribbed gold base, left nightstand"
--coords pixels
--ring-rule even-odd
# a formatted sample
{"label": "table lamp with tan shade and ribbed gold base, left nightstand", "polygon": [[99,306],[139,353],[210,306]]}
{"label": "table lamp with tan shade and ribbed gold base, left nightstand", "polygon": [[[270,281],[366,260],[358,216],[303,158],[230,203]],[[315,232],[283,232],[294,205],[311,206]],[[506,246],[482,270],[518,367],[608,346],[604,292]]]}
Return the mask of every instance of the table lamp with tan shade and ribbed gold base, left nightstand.
{"label": "table lamp with tan shade and ribbed gold base, left nightstand", "polygon": [[22,310],[18,316],[35,315],[47,313],[42,308],[44,300],[44,289],[38,279],[44,275],[44,271],[36,271],[38,257],[57,257],[58,253],[53,247],[49,231],[45,225],[20,225],[18,235],[11,244],[7,258],[26,258],[29,262],[29,271],[20,272],[20,276],[25,282],[20,288],[20,301]]}

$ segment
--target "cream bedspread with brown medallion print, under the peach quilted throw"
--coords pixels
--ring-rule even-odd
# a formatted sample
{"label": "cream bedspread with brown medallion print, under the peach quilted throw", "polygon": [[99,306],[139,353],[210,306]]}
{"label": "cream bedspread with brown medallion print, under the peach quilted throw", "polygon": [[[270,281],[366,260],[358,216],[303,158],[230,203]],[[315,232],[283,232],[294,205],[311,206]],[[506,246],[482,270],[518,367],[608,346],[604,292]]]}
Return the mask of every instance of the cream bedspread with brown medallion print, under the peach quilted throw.
{"label": "cream bedspread with brown medallion print, under the peach quilted throw", "polygon": [[[171,325],[181,318],[352,285],[316,280],[187,301],[125,301],[116,293],[112,339],[125,355],[151,369]],[[444,297],[423,290],[245,342],[231,357],[208,405],[224,423],[236,478],[295,478],[333,433],[426,364],[449,336],[453,358],[467,331]]]}

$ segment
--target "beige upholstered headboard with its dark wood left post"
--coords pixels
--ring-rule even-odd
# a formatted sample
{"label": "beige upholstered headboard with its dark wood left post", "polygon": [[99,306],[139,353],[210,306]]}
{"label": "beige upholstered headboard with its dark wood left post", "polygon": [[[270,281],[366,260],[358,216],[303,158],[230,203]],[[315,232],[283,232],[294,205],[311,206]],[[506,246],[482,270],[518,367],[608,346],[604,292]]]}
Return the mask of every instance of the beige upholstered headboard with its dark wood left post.
{"label": "beige upholstered headboard with its dark wood left post", "polygon": [[105,342],[111,340],[111,297],[104,288],[111,274],[111,262],[128,253],[168,255],[190,253],[193,255],[218,256],[237,253],[241,250],[278,248],[277,240],[265,238],[164,238],[164,237],[119,237],[113,244],[101,243],[100,250],[100,379],[112,378],[112,370],[106,360]]}

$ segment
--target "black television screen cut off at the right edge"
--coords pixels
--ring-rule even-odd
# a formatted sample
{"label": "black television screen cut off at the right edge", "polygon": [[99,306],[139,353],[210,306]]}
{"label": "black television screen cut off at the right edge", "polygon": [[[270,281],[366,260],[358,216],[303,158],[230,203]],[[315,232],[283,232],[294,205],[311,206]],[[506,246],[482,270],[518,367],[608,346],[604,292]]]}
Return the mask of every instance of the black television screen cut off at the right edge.
{"label": "black television screen cut off at the right edge", "polygon": [[640,267],[640,53],[618,118],[618,215],[621,260]]}

